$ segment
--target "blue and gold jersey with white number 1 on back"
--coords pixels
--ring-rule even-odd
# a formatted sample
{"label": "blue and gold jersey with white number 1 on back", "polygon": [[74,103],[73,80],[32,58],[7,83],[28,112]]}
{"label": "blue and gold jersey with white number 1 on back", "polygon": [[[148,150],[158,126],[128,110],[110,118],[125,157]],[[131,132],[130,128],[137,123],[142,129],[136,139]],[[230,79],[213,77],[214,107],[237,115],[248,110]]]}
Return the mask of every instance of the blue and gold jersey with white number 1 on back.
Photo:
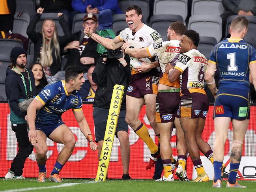
{"label": "blue and gold jersey with white number 1 on back", "polygon": [[256,52],[243,39],[229,38],[220,41],[211,51],[208,62],[217,65],[219,86],[250,88],[249,65],[256,63]]}

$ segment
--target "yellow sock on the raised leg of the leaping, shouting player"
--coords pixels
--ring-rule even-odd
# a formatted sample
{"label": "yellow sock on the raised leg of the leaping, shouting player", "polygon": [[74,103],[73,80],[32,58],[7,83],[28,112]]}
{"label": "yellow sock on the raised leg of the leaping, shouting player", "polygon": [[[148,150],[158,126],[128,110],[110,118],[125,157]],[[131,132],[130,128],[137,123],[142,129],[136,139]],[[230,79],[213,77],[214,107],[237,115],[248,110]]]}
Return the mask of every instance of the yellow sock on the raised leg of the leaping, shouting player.
{"label": "yellow sock on the raised leg of the leaping, shouting player", "polygon": [[151,154],[157,153],[158,147],[150,137],[146,125],[141,123],[134,132],[148,145]]}

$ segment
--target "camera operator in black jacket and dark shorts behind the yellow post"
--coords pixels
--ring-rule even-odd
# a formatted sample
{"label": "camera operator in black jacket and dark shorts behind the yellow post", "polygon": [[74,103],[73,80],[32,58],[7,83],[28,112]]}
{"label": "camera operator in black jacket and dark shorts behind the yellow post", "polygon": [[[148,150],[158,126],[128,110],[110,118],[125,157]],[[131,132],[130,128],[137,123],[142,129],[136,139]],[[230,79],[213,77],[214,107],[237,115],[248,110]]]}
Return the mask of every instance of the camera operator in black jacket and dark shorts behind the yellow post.
{"label": "camera operator in black jacket and dark shorts behind the yellow post", "polygon": [[99,62],[92,73],[92,80],[98,85],[93,103],[95,138],[96,142],[99,144],[98,157],[101,155],[113,87],[115,84],[125,86],[125,93],[123,95],[118,125],[116,128],[116,136],[120,141],[120,151],[123,163],[122,179],[131,179],[129,176],[130,144],[128,125],[125,122],[125,95],[129,85],[130,76],[130,60],[128,55],[125,58],[123,57],[118,60],[99,58]]}

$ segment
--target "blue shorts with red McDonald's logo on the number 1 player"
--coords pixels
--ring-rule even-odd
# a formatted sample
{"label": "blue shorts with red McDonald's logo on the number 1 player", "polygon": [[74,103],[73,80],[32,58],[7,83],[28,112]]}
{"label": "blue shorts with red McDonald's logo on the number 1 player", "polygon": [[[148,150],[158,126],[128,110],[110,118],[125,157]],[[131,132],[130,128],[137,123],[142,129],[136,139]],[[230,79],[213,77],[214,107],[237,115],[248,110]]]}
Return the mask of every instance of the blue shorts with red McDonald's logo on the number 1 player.
{"label": "blue shorts with red McDonald's logo on the number 1 player", "polygon": [[250,119],[250,90],[220,88],[214,103],[214,117]]}

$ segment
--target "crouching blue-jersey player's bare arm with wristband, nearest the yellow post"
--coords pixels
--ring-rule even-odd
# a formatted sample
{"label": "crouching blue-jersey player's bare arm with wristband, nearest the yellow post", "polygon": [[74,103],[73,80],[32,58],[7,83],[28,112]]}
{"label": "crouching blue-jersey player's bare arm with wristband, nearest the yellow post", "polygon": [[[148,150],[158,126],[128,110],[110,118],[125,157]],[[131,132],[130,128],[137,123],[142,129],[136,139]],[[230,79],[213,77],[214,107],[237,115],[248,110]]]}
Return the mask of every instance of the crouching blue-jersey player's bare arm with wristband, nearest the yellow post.
{"label": "crouching blue-jersey player's bare arm with wristband, nearest the yellow post", "polygon": [[92,149],[92,151],[96,151],[98,149],[98,146],[92,140],[92,132],[90,130],[90,127],[89,127],[85,117],[84,117],[83,110],[73,111],[73,114],[74,114],[75,118],[77,119],[77,123],[80,127],[81,132],[84,134],[84,136],[86,136],[86,138],[90,144],[90,148]]}

